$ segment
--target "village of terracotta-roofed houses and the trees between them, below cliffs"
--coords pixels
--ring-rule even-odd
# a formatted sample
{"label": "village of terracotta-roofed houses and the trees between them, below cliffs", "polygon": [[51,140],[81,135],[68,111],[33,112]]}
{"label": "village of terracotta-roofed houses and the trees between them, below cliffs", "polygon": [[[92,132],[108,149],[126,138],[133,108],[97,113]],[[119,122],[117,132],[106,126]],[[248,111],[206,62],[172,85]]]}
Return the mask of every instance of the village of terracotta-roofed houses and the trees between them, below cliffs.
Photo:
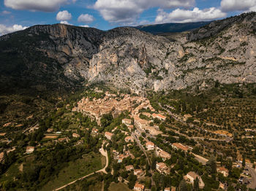
{"label": "village of terracotta-roofed houses and the trees between them, below cliffs", "polygon": [[[102,172],[116,176],[118,182],[132,190],[154,190],[154,187],[166,185],[165,191],[174,191],[181,186],[181,182],[190,187],[196,185],[203,190],[209,185],[208,179],[211,179],[205,173],[211,163],[215,164],[213,171],[218,176],[214,179],[215,190],[227,190],[230,184],[227,180],[231,179],[230,174],[234,179],[234,169],[239,172],[236,179],[240,184],[248,185],[256,179],[252,166],[233,160],[231,167],[227,169],[226,163],[229,160],[224,163],[198,153],[196,148],[200,144],[194,139],[189,140],[178,132],[171,136],[173,133],[169,128],[163,130],[162,127],[168,124],[172,116],[165,110],[154,109],[148,98],[106,91],[102,98],[83,97],[70,110],[71,113],[67,116],[89,117],[91,126],[83,126],[78,120],[80,125],[73,125],[74,128],[47,128],[42,136],[42,144],[26,146],[23,155],[33,155],[35,151],[55,147],[56,144],[83,146],[86,144],[84,136],[87,134],[100,140],[108,151],[110,163],[106,164]],[[109,115],[112,123],[115,120],[118,122],[102,128],[102,119]],[[185,115],[184,121],[189,117]],[[26,133],[34,130],[38,130],[37,125]],[[246,129],[246,132],[251,131],[252,129]],[[221,133],[225,132],[219,131]],[[5,134],[1,133],[0,136],[4,137]],[[15,147],[8,149],[7,154],[14,150]],[[1,162],[4,155],[4,152],[0,153]],[[160,177],[169,181],[159,182]]]}

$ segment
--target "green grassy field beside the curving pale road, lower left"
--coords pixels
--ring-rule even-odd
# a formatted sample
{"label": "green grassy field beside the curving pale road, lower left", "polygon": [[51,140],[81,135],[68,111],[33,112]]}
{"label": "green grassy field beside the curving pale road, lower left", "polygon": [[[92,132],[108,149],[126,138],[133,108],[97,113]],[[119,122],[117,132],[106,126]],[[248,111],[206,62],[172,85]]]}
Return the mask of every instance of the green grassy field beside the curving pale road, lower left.
{"label": "green grassy field beside the curving pale road, lower left", "polygon": [[45,184],[41,190],[46,191],[56,189],[75,179],[91,174],[94,171],[103,168],[104,165],[105,164],[102,164],[102,156],[99,153],[90,153],[82,159],[69,162],[69,165],[63,168],[58,176],[53,177],[52,181]]}

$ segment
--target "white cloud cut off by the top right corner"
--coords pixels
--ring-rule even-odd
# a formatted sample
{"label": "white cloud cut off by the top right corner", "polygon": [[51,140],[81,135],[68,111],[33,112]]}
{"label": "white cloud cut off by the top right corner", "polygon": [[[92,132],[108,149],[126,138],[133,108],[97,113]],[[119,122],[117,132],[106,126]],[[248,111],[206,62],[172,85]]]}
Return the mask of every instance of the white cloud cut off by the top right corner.
{"label": "white cloud cut off by the top right corner", "polygon": [[224,12],[249,11],[256,7],[256,0],[222,0],[221,8]]}

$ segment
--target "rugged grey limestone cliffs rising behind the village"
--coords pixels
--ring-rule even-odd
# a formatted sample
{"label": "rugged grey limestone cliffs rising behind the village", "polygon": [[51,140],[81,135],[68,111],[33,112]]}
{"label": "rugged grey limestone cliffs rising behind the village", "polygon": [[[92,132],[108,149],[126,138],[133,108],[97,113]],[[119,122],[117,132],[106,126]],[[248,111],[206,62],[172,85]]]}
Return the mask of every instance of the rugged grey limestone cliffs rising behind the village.
{"label": "rugged grey limestone cliffs rising behind the village", "polygon": [[135,28],[57,24],[0,37],[1,85],[74,87],[103,82],[134,93],[256,82],[256,14],[210,23],[170,41]]}

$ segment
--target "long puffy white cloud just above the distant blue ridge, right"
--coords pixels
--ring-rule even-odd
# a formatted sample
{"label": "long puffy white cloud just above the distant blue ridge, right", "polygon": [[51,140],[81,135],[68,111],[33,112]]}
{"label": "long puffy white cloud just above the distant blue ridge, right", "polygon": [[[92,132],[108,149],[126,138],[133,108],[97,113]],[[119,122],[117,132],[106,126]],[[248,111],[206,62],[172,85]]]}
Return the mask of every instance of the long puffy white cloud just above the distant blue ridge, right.
{"label": "long puffy white cloud just above the distant blue ridge, right", "polygon": [[220,9],[211,7],[209,9],[200,10],[195,7],[192,10],[175,9],[173,12],[165,12],[162,9],[158,10],[156,23],[188,23],[206,20],[215,20],[226,17],[227,14]]}

